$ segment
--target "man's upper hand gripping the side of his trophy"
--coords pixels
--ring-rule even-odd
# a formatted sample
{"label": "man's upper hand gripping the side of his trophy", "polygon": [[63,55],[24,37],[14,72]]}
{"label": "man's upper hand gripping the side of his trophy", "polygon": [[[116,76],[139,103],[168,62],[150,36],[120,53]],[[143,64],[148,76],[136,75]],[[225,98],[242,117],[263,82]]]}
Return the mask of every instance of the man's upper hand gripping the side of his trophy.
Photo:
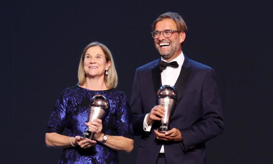
{"label": "man's upper hand gripping the side of his trophy", "polygon": [[151,109],[151,112],[148,114],[146,122],[148,125],[154,123],[156,120],[161,120],[161,117],[165,117],[165,109],[161,105],[156,105]]}

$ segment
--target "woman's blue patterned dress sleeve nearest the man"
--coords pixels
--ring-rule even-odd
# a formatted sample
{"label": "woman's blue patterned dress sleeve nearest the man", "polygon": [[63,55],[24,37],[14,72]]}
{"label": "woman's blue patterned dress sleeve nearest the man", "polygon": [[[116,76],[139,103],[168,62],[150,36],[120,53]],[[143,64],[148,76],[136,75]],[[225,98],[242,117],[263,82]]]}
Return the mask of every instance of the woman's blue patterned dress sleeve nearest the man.
{"label": "woman's blue patterned dress sleeve nearest the man", "polygon": [[117,134],[133,139],[132,114],[125,93],[119,95],[116,115]]}

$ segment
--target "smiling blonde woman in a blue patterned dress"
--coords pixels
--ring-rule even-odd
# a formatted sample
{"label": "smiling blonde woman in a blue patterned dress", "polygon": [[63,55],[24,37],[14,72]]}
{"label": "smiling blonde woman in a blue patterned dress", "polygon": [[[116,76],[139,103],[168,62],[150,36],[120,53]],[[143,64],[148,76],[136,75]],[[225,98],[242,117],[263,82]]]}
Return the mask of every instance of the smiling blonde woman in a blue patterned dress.
{"label": "smiling blonde woman in a blue patterned dress", "polygon": [[[108,48],[92,42],[78,68],[79,85],[65,89],[57,100],[46,133],[47,147],[64,148],[58,163],[119,163],[117,150],[131,152],[133,128],[126,96],[117,91],[117,72]],[[103,120],[88,120],[90,100],[104,95],[110,102]],[[81,140],[86,126],[94,140]],[[66,134],[62,135],[66,128]],[[75,136],[75,137],[74,137]]]}

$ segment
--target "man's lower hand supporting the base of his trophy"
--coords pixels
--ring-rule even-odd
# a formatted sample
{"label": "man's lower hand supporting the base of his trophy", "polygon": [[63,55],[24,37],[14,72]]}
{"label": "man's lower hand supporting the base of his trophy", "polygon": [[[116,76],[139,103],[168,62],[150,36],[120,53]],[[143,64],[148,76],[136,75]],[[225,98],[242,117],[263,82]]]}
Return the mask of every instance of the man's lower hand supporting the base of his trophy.
{"label": "man's lower hand supporting the base of his trophy", "polygon": [[165,133],[159,133],[158,130],[154,130],[156,138],[164,141],[183,141],[180,130],[172,128]]}

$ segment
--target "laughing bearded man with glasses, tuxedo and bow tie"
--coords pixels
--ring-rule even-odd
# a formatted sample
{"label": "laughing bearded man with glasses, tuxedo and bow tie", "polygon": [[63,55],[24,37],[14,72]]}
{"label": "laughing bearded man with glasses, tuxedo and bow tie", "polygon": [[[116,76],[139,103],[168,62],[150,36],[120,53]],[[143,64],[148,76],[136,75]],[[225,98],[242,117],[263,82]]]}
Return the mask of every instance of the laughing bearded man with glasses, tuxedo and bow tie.
{"label": "laughing bearded man with glasses, tuxedo and bow tie", "polygon": [[[141,135],[137,163],[206,163],[205,142],[224,130],[215,72],[183,54],[187,26],[177,13],[160,15],[152,27],[161,60],[137,68],[131,98],[134,133]],[[162,85],[178,92],[166,133],[158,132],[165,117],[157,104]]]}

